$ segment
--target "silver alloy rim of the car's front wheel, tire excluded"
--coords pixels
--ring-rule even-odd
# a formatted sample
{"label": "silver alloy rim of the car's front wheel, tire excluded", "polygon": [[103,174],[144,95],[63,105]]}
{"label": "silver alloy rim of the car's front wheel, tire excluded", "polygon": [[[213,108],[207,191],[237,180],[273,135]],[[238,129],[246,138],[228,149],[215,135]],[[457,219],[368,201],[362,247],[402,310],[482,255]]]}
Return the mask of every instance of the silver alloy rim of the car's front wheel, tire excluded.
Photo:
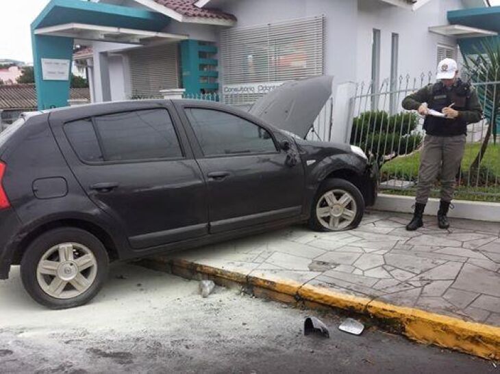
{"label": "silver alloy rim of the car's front wheel, tire excluded", "polygon": [[358,205],[351,193],[332,189],[321,196],[316,204],[316,217],[328,230],[344,230],[354,222]]}

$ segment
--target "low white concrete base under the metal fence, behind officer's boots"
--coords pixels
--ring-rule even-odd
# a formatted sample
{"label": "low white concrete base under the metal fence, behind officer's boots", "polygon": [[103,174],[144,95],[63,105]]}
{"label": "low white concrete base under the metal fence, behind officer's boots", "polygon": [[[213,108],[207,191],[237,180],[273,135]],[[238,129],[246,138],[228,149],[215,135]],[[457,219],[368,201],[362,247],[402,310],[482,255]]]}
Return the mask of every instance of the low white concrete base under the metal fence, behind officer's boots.
{"label": "low white concrete base under the metal fence, behind officer's boots", "polygon": [[[375,211],[413,213],[413,196],[397,196],[379,193],[377,202],[372,207]],[[500,204],[497,202],[453,200],[455,209],[449,211],[451,218],[474,219],[477,221],[500,222]],[[436,215],[439,199],[429,199],[425,214]]]}

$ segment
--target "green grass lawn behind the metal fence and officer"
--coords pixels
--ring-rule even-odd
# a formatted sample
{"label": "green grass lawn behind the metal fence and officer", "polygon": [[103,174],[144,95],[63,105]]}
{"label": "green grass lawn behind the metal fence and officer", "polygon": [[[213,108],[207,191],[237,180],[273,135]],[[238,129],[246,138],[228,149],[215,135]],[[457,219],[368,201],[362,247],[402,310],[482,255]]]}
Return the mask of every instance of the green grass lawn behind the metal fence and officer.
{"label": "green grass lawn behind the metal fence and officer", "polygon": [[[462,159],[462,170],[468,170],[473,163],[481,144],[467,144]],[[410,156],[397,157],[392,161],[382,166],[383,181],[392,178],[403,178],[405,180],[416,181],[418,177],[418,164],[420,163],[420,152],[414,152]],[[462,185],[457,187],[455,198],[457,200],[477,200],[477,201],[492,201],[500,202],[500,144],[490,144],[486,150],[482,167],[488,169],[488,175],[497,176],[497,185],[495,182],[490,183],[489,187],[476,187],[474,185]],[[462,181],[464,183],[466,181]],[[414,189],[407,191],[400,190],[382,190],[382,193],[390,193],[395,195],[410,195],[414,196]],[[431,193],[434,198],[439,197],[439,189],[434,189]]]}

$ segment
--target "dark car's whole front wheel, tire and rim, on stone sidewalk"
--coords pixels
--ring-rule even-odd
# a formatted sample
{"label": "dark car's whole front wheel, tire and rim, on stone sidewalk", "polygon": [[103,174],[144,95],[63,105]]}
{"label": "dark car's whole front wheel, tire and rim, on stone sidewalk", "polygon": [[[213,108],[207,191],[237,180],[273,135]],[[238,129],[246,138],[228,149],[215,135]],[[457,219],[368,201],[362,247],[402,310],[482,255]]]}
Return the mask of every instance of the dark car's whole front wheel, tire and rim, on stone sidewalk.
{"label": "dark car's whole front wheel, tire and rim, on stone sidewalk", "polygon": [[342,231],[358,227],[364,214],[364,198],[345,179],[326,179],[316,192],[309,226],[316,231]]}

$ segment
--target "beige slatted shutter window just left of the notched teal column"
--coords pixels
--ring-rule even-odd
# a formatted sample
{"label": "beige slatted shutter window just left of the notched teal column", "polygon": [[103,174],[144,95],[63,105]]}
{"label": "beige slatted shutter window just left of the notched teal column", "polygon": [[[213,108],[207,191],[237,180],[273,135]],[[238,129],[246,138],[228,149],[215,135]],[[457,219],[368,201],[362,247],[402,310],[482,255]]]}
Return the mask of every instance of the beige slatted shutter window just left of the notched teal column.
{"label": "beige slatted shutter window just left of the notched teal column", "polygon": [[160,90],[179,88],[177,44],[129,51],[133,98],[162,97]]}

